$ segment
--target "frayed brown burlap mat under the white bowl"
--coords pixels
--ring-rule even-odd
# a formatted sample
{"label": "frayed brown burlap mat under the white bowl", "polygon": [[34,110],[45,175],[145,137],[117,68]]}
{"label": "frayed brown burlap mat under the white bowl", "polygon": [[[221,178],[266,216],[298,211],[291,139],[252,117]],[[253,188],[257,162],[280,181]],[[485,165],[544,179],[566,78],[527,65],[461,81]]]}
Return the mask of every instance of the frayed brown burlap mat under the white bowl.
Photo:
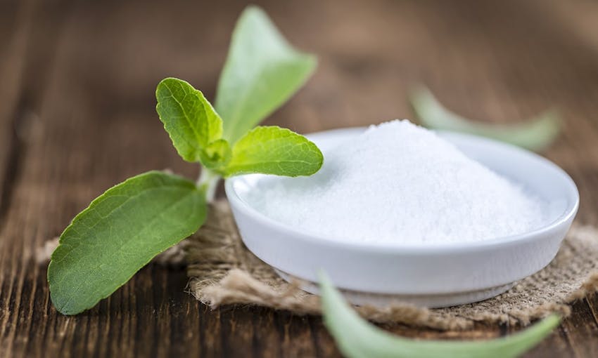
{"label": "frayed brown burlap mat under the white bowl", "polygon": [[[191,277],[189,292],[201,302],[250,304],[319,314],[319,297],[288,284],[250,253],[236,230],[227,201],[212,204],[205,225],[184,241]],[[598,230],[573,226],[556,258],[512,289],[480,303],[426,309],[396,302],[388,307],[356,307],[363,317],[433,329],[469,329],[475,322],[523,326],[551,312],[568,315],[568,303],[598,291]]]}

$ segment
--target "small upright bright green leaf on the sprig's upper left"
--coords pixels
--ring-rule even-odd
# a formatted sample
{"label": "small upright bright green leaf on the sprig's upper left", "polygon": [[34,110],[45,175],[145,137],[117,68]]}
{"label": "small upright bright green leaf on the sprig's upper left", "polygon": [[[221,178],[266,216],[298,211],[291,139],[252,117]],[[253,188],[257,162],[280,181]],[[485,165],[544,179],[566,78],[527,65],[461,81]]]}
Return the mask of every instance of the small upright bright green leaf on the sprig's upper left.
{"label": "small upright bright green leaf on the sprig's upper left", "polygon": [[222,138],[222,119],[203,93],[186,81],[163,79],[155,90],[155,98],[160,121],[186,161],[200,161],[202,150]]}

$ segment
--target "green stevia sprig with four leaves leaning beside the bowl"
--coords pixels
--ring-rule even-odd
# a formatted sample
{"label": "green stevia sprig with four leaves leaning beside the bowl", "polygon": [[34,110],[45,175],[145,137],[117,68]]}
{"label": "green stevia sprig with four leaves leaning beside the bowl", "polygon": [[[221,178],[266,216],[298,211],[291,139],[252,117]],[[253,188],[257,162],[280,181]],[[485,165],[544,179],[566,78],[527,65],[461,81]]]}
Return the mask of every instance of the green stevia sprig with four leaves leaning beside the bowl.
{"label": "green stevia sprig with four leaves leaning beside the bowl", "polygon": [[303,135],[278,126],[253,128],[303,85],[315,65],[250,6],[234,30],[216,109],[186,81],[160,81],[156,111],[182,159],[201,165],[201,176],[194,183],[160,171],[136,175],[79,213],[48,267],[56,310],[77,314],[94,307],[158,253],[196,232],[220,178],[317,172],[322,152]]}

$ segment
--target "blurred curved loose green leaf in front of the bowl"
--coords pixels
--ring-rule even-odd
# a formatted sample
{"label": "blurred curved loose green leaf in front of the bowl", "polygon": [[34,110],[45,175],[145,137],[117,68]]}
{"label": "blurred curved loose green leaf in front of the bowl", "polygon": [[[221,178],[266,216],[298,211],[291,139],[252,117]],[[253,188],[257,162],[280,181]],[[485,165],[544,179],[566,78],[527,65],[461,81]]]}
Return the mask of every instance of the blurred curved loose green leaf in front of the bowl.
{"label": "blurred curved loose green leaf in front of the bowl", "polygon": [[345,303],[330,279],[320,272],[324,324],[346,357],[518,357],[548,336],[559,325],[559,317],[549,316],[512,336],[493,340],[458,342],[412,340],[393,336],[362,319]]}

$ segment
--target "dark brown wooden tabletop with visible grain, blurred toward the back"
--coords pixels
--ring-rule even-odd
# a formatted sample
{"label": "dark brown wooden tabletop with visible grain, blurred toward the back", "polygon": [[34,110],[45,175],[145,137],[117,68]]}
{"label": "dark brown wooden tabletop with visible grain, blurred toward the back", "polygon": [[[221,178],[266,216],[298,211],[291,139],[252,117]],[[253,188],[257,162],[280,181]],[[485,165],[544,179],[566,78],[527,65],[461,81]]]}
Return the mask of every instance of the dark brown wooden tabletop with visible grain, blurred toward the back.
{"label": "dark brown wooden tabletop with visible grain, blurred toward the back", "polygon": [[[598,224],[598,4],[590,1],[269,1],[319,69],[267,124],[311,132],[412,117],[424,82],[448,107],[516,121],[547,107],[564,132],[545,153],[579,186],[578,221]],[[241,1],[1,1],[0,356],[338,357],[319,317],[255,307],[210,310],[184,270],[148,265],[77,317],[49,302],[34,252],[96,195],[130,175],[195,177],[155,114],[160,79],[213,99]],[[598,296],[529,357],[598,357]],[[419,338],[490,338],[516,327]]]}

